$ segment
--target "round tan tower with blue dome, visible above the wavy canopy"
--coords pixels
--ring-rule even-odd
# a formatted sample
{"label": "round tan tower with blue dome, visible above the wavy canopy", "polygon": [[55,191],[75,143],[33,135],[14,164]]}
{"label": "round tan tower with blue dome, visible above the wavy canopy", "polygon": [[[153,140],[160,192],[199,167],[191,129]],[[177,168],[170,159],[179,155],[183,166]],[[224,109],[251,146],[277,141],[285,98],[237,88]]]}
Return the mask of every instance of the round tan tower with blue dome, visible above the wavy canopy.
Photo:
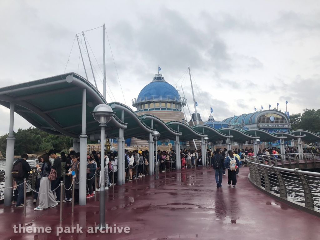
{"label": "round tan tower with blue dome, visible above the wavy canopy", "polygon": [[180,97],[178,91],[164,80],[162,74],[156,74],[151,83],[132,100],[132,106],[137,108],[138,116],[148,113],[164,122],[184,122],[185,116],[181,109],[185,105],[186,99]]}

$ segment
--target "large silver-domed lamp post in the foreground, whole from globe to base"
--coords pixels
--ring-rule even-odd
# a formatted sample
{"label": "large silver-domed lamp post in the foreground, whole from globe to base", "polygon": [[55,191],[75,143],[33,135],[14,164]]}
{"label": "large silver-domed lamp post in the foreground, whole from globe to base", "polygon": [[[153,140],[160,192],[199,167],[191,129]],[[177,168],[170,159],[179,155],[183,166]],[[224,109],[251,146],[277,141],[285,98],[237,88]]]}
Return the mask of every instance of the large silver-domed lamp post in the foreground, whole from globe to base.
{"label": "large silver-domed lamp post in the foreground, whole from globe to base", "polygon": [[98,229],[106,228],[106,216],[105,216],[105,179],[104,179],[104,127],[108,122],[110,122],[112,116],[114,116],[114,112],[112,108],[107,104],[99,104],[93,109],[91,112],[94,120],[96,120],[101,126],[101,182],[100,182],[100,205],[99,205],[99,226]]}

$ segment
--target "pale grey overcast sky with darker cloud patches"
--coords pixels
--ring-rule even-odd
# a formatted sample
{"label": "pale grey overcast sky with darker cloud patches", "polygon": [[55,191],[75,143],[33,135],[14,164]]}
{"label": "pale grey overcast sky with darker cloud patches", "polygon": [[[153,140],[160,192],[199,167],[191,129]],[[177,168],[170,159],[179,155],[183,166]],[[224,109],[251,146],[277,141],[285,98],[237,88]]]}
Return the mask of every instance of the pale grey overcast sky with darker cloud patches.
{"label": "pale grey overcast sky with darker cloud patches", "polygon": [[[290,114],[320,108],[319,1],[2,0],[0,22],[0,87],[62,74],[67,62],[66,72],[85,77],[75,34],[105,23],[124,93],[106,38],[108,102],[132,107],[159,65],[168,83],[182,84],[194,111],[183,75],[190,65],[203,120],[210,105],[220,121],[277,101],[285,111],[285,99]],[[85,33],[100,92],[102,34]],[[85,53],[84,60],[93,83]],[[9,110],[0,107],[0,114],[4,134]],[[15,114],[15,131],[28,126]]]}

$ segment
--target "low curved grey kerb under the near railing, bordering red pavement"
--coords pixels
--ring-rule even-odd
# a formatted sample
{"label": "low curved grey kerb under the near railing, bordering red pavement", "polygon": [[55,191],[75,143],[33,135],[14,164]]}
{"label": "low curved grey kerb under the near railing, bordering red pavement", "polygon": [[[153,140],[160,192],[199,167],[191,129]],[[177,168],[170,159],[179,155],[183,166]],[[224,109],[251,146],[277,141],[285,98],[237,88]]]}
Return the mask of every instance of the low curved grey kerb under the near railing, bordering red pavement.
{"label": "low curved grey kerb under the near railing, bordering red pavement", "polygon": [[288,198],[285,198],[285,197],[281,197],[281,196],[278,196],[276,195],[274,192],[271,192],[271,191],[268,191],[268,190],[265,190],[263,187],[260,187],[258,185],[256,185],[251,179],[250,179],[250,174],[248,174],[248,180],[249,182],[251,183],[252,186],[254,186],[255,188],[257,188],[258,190],[260,190],[262,193],[268,195],[268,196],[271,196],[273,198],[275,198],[276,200],[280,201],[280,202],[283,202],[285,204],[288,204],[289,206],[291,207],[294,207],[294,208],[297,208],[303,212],[307,212],[307,213],[310,213],[316,217],[319,217],[320,218],[320,211],[317,210],[317,209],[312,209],[312,208],[309,208],[309,207],[305,207],[303,206],[302,204],[299,204],[299,203],[296,203],[294,201],[292,201],[291,199],[288,199]]}

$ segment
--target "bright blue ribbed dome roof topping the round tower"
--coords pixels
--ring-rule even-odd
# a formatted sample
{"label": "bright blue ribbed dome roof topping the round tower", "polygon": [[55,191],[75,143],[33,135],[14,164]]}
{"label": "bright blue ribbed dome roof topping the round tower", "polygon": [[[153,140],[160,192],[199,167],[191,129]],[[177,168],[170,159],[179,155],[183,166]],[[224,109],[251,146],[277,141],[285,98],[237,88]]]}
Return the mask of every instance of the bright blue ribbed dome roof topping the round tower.
{"label": "bright blue ribbed dome roof topping the round tower", "polygon": [[[164,80],[164,77],[157,76],[153,78],[152,82],[145,86],[139,93],[138,98],[144,98],[147,96],[169,96],[170,100],[176,97],[177,101],[180,101],[180,95],[178,91],[169,83]],[[159,74],[161,75],[161,74]]]}

